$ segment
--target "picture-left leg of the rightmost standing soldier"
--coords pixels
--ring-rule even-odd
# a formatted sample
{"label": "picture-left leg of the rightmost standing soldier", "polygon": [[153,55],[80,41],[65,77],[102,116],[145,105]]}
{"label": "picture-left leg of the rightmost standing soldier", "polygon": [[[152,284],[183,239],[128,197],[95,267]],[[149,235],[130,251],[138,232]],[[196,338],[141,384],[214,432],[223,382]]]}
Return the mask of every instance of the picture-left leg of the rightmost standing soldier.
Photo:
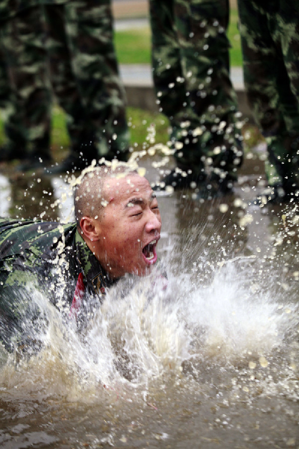
{"label": "picture-left leg of the rightmost standing soldier", "polygon": [[273,1],[266,8],[259,1],[238,1],[244,81],[249,105],[267,142],[270,201],[288,193],[287,140],[290,132],[297,132],[293,122],[297,121],[298,129],[298,102],[290,88],[282,51],[282,41],[287,39],[278,24],[279,3]]}

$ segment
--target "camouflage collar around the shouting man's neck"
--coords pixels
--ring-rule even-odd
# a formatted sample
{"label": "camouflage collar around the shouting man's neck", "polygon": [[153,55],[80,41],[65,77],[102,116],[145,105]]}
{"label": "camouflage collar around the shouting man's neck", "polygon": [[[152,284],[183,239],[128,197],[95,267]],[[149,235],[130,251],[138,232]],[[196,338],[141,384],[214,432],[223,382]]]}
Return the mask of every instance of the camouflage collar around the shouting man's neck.
{"label": "camouflage collar around the shouting man's neck", "polygon": [[100,262],[89,249],[78,230],[76,230],[75,234],[75,246],[77,260],[80,263],[80,267],[88,285],[90,287],[92,286],[92,290],[98,295],[105,293],[105,288],[110,287],[113,284],[113,280],[102,268]]}

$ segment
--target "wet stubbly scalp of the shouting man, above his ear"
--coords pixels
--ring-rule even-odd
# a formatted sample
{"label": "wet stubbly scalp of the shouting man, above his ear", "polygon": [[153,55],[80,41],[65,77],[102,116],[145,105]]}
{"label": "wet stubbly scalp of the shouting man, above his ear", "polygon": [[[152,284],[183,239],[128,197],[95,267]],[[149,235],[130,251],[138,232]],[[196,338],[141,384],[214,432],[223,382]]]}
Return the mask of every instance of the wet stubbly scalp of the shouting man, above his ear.
{"label": "wet stubbly scalp of the shouting man, above his ear", "polygon": [[[125,177],[137,172],[126,164],[116,166],[102,165],[82,174],[74,192],[74,207],[77,226],[82,217],[101,219],[107,204],[107,185],[109,179]],[[106,187],[106,189],[105,189]]]}

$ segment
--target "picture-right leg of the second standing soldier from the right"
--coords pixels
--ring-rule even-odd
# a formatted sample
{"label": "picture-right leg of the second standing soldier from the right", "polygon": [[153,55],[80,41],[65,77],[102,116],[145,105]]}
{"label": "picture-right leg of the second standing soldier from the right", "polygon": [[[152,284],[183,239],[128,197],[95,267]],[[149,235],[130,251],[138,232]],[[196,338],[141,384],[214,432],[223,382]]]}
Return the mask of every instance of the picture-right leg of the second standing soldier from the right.
{"label": "picture-right leg of the second standing soldier from the right", "polygon": [[237,179],[243,158],[237,96],[229,73],[229,2],[177,0],[175,17],[186,90],[201,125],[193,139],[195,151],[186,146],[183,158],[195,170],[204,162],[225,192]]}

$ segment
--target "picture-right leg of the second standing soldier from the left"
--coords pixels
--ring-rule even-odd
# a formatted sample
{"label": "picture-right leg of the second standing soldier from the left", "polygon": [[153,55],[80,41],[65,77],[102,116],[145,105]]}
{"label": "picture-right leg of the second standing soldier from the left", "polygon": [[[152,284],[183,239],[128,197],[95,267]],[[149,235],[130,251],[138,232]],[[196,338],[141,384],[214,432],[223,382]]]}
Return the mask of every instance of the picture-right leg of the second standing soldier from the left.
{"label": "picture-right leg of the second standing soldier from the left", "polygon": [[126,97],[113,43],[110,0],[66,4],[73,67],[89,119],[97,133],[98,156],[127,160]]}

